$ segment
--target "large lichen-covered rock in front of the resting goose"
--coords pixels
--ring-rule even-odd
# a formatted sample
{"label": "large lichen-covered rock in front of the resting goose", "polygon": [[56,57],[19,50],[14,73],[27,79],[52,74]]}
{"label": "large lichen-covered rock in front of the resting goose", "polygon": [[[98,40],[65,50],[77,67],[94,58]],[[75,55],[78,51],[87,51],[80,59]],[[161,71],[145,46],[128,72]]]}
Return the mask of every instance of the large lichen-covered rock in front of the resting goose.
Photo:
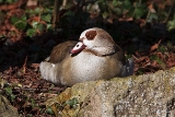
{"label": "large lichen-covered rock in front of the resting goose", "polygon": [[78,83],[46,105],[57,117],[174,117],[175,68]]}

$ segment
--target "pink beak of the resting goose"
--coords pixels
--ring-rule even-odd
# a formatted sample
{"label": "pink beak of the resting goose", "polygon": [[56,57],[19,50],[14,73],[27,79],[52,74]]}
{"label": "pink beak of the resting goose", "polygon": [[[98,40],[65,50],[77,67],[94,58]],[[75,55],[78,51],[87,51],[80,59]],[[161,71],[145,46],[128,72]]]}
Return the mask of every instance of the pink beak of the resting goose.
{"label": "pink beak of the resting goose", "polygon": [[85,45],[82,42],[79,42],[72,49],[71,54],[81,52],[85,48]]}

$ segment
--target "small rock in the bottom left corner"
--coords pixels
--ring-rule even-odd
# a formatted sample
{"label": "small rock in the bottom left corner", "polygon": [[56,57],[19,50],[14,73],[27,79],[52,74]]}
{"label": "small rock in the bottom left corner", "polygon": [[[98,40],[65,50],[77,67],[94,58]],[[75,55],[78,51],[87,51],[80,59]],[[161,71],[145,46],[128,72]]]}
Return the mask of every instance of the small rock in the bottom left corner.
{"label": "small rock in the bottom left corner", "polygon": [[2,95],[0,95],[0,117],[19,117],[18,109]]}

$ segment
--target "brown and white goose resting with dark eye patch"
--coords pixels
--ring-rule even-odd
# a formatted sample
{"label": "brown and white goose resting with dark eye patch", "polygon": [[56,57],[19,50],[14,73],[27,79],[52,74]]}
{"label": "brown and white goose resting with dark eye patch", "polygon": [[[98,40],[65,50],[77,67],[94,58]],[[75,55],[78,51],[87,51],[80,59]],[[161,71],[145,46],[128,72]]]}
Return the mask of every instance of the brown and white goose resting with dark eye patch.
{"label": "brown and white goose resting with dark eye patch", "polygon": [[54,47],[48,59],[39,65],[44,79],[71,86],[133,73],[133,60],[125,59],[122,49],[106,31],[98,27],[85,30],[79,40]]}

